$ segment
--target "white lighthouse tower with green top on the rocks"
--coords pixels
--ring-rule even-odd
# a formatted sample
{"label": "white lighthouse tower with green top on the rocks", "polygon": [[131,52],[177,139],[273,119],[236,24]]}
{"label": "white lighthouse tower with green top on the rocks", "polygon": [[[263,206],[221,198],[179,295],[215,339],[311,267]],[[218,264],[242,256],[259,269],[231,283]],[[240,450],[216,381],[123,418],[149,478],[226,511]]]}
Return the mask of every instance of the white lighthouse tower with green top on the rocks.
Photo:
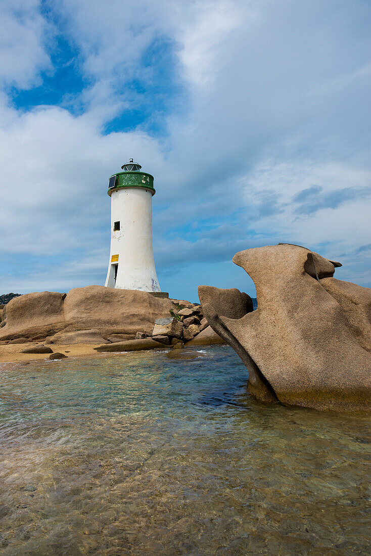
{"label": "white lighthouse tower with green top on the rocks", "polygon": [[111,252],[105,286],[156,295],[161,290],[152,246],[154,177],[132,158],[121,168],[108,182]]}

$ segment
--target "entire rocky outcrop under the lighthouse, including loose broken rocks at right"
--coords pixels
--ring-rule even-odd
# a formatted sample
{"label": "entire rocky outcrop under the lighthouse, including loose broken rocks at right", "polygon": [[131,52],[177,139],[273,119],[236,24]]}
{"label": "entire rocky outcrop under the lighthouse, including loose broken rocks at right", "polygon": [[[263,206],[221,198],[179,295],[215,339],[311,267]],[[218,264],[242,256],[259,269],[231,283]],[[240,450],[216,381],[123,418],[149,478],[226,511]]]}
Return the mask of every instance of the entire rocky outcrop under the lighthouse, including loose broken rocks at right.
{"label": "entire rocky outcrop under the lighthouse, including loose broken rocks at right", "polygon": [[[207,331],[200,305],[162,299],[144,291],[87,286],[68,294],[35,292],[9,301],[4,312],[0,345],[39,341],[48,345],[111,345],[150,336],[154,341],[135,343],[135,349],[157,347],[157,342],[171,346],[176,340],[196,338],[197,345],[224,342],[213,330]],[[122,348],[117,345],[113,351]]]}

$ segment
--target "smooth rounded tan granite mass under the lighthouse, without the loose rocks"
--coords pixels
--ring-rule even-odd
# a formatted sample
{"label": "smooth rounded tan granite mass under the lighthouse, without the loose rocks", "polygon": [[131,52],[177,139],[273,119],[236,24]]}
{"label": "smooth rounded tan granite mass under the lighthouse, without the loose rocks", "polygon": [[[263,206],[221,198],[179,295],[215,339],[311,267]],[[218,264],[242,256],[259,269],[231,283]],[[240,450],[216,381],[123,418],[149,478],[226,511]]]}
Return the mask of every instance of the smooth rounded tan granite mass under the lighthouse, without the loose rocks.
{"label": "smooth rounded tan granite mass under the lighthouse, without the loose rocks", "polygon": [[[169,299],[145,291],[103,286],[78,287],[67,295],[35,292],[9,301],[0,340],[24,337],[36,341],[48,336],[54,341],[53,336],[61,331],[92,329],[98,330],[103,338],[98,343],[116,333],[134,336],[140,330],[151,334],[155,320],[168,317],[172,307],[174,304]],[[57,335],[58,339],[62,336]],[[63,342],[67,340],[67,336],[63,337]]]}

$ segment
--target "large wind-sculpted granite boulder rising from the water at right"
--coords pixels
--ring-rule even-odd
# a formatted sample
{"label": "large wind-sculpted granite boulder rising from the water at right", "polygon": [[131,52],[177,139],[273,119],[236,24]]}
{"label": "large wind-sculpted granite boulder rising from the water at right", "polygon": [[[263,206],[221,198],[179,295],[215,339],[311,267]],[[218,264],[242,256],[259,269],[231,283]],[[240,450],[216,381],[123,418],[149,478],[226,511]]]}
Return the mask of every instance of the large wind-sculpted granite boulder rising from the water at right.
{"label": "large wind-sculpted granite boulder rising from the water at right", "polygon": [[233,261],[254,280],[258,309],[231,317],[232,295],[223,307],[223,290],[200,286],[199,297],[212,329],[248,368],[250,393],[319,410],[369,410],[371,290],[333,279],[339,263],[296,245],[241,251]]}

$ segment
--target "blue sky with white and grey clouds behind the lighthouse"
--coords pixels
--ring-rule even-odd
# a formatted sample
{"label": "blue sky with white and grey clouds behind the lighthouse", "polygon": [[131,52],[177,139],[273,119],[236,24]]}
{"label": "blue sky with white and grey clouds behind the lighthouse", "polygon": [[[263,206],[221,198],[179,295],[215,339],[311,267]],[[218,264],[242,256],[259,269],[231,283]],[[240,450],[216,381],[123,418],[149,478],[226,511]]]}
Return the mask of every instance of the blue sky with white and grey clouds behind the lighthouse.
{"label": "blue sky with white and grey clouds behind the lighthouse", "polygon": [[0,294],[104,284],[108,177],[155,176],[161,289],[281,242],[371,286],[369,0],[1,0]]}

